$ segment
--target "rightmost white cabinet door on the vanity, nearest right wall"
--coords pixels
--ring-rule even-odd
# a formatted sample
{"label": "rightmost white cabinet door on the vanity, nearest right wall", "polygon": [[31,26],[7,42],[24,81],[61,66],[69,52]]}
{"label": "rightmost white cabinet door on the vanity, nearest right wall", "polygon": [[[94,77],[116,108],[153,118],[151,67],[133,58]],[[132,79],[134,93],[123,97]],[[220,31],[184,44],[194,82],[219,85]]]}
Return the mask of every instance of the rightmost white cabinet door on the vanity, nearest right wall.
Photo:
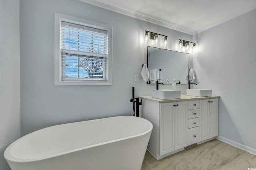
{"label": "rightmost white cabinet door on the vanity, nearest right wall", "polygon": [[218,136],[218,127],[219,127],[219,102],[217,99],[210,100],[210,138]]}

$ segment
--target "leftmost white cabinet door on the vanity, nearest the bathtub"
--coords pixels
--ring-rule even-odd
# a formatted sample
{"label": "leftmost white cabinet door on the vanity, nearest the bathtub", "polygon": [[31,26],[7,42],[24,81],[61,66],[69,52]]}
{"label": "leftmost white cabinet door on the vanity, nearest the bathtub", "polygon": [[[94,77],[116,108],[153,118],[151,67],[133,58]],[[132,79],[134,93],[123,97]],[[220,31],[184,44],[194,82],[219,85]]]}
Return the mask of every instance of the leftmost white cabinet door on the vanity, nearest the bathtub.
{"label": "leftmost white cabinet door on the vanity, nearest the bathtub", "polygon": [[160,151],[167,154],[174,151],[175,113],[174,103],[160,104]]}

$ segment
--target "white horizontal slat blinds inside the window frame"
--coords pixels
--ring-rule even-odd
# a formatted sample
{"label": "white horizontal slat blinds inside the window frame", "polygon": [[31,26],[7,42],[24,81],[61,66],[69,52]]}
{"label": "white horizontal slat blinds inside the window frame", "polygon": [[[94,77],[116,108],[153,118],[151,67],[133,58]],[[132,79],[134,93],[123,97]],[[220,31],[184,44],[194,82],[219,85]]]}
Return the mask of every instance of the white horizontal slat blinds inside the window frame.
{"label": "white horizontal slat blinds inside the window frame", "polygon": [[61,79],[108,80],[108,31],[61,21]]}

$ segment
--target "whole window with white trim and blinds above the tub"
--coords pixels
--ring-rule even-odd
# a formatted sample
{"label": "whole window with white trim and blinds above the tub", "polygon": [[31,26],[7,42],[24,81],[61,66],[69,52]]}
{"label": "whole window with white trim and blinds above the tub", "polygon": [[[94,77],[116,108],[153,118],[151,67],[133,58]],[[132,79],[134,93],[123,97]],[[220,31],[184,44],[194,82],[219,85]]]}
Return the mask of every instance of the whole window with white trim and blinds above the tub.
{"label": "whole window with white trim and blinds above the tub", "polygon": [[55,85],[111,85],[111,27],[55,14]]}

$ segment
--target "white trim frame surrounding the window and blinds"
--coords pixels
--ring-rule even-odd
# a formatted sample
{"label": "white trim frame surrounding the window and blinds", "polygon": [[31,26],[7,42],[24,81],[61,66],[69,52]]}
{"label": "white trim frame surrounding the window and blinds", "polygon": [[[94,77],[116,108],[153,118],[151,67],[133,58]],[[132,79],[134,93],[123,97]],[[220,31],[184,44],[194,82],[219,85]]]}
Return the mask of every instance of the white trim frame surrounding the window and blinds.
{"label": "white trim frame surrounding the window and blinds", "polygon": [[[61,53],[60,53],[60,24],[61,21],[67,21],[77,24],[86,24],[91,27],[104,28],[108,31],[108,80],[61,80]],[[55,62],[55,85],[56,86],[86,86],[86,85],[112,85],[112,27],[94,21],[84,20],[64,14],[55,13],[55,46],[54,46],[54,62]]]}

